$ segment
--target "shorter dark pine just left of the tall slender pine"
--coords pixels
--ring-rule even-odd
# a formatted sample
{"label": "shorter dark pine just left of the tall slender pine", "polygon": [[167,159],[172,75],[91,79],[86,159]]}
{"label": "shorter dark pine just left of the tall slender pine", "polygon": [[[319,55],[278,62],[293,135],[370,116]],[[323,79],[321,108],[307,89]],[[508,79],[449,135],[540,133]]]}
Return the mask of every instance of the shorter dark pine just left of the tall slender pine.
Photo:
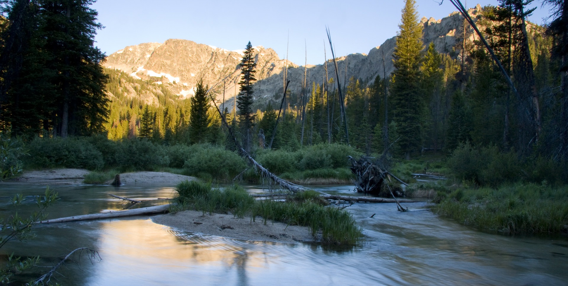
{"label": "shorter dark pine just left of the tall slender pine", "polygon": [[195,95],[191,98],[191,113],[189,116],[191,143],[201,143],[207,140],[207,128],[211,123],[211,119],[207,114],[209,110],[208,89],[208,86],[203,87],[203,79],[199,79],[195,86]]}

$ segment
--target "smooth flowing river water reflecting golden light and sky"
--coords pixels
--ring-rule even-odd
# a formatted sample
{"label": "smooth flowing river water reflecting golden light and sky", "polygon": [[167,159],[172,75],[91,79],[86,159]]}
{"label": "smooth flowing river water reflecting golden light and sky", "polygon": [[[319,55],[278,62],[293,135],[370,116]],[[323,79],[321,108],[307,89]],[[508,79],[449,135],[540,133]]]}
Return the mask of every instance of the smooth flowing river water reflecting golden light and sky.
{"label": "smooth flowing river water reflecting golden light and sky", "polygon": [[[60,200],[49,218],[122,209],[130,204],[107,194],[168,203],[174,186],[56,186]],[[318,187],[353,195],[352,186]],[[258,191],[251,186],[250,190]],[[28,197],[34,209],[44,187],[0,183],[0,211],[9,197]],[[78,247],[101,259],[75,256],[52,282],[64,285],[567,285],[568,240],[508,237],[478,232],[428,211],[429,203],[357,203],[348,208],[364,228],[360,246],[341,249],[306,244],[248,242],[184,232],[148,217],[114,218],[34,226],[37,238],[10,242],[2,254],[40,255],[53,265]],[[136,206],[138,207],[138,206]],[[372,218],[371,215],[375,214]],[[75,263],[77,262],[77,263]],[[30,280],[39,276],[20,275]]]}

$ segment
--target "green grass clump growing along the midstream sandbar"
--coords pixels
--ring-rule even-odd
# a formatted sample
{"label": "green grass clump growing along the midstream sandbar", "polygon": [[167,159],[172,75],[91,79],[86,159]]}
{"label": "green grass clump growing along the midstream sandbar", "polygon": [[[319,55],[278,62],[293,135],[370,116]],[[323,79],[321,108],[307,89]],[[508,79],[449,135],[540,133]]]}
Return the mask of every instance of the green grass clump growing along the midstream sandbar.
{"label": "green grass clump growing along the midstream sandbar", "polygon": [[362,237],[362,229],[356,225],[349,212],[325,207],[315,191],[296,194],[288,201],[255,201],[240,186],[224,190],[212,188],[210,183],[197,180],[178,184],[177,207],[171,211],[195,209],[203,213],[231,212],[236,217],[261,216],[266,224],[269,220],[289,225],[308,226],[314,237],[321,234],[322,243],[353,245]]}

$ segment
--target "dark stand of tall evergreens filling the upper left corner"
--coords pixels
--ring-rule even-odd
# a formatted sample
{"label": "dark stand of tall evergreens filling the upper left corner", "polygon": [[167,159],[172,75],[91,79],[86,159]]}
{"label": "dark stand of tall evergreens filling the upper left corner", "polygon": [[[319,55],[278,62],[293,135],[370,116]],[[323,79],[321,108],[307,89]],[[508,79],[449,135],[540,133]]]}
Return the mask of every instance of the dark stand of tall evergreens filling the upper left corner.
{"label": "dark stand of tall evergreens filling the upper left corner", "polygon": [[93,45],[102,27],[90,9],[93,1],[12,3],[9,15],[19,24],[2,35],[14,44],[5,44],[0,59],[1,110],[10,111],[2,125],[28,134],[41,129],[59,136],[102,132],[107,77],[100,65],[105,54]]}

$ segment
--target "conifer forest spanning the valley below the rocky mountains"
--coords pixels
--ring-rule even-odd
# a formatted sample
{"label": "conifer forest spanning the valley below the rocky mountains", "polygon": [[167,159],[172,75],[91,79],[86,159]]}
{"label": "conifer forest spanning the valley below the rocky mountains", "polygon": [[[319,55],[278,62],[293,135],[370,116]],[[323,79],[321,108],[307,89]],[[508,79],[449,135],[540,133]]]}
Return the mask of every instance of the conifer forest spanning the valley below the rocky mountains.
{"label": "conifer forest spanning the valley below the rocky mountains", "polygon": [[[213,100],[216,82],[201,82],[201,96],[183,98],[160,78],[103,69],[105,55],[93,46],[102,26],[91,1],[2,1],[0,128],[24,142],[104,134],[116,142],[235,150],[223,117],[237,133],[250,134],[252,153],[348,144],[367,155],[388,149],[394,159],[411,159],[491,149],[529,169],[538,163],[557,170],[568,156],[566,3],[545,1],[554,13],[541,27],[525,20],[528,2],[503,0],[475,19],[505,73],[482,41],[469,40],[466,20],[456,32],[461,44],[450,53],[423,43],[408,0],[392,74],[342,78],[330,64],[321,81],[300,83],[301,92],[277,94],[266,106],[252,97],[244,107],[235,98],[229,108]],[[243,73],[242,62],[237,69]],[[532,177],[527,170],[515,176]],[[480,183],[478,175],[461,175]]]}

